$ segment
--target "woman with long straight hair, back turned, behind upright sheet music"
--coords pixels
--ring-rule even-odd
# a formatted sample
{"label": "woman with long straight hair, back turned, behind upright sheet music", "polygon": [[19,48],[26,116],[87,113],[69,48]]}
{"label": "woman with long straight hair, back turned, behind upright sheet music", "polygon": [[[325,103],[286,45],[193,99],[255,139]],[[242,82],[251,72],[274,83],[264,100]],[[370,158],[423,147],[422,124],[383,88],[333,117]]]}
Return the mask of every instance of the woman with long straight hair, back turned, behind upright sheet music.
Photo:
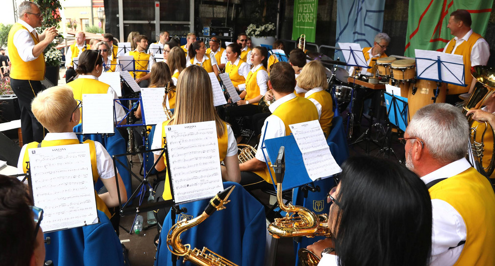
{"label": "woman with long straight hair, back turned, behind upright sheet music", "polygon": [[[224,122],[216,114],[213,107],[213,90],[211,80],[206,71],[196,65],[186,68],[177,82],[177,102],[174,117],[168,121],[157,124],[153,136],[151,149],[164,147],[163,137],[165,137],[165,126],[175,124],[186,124],[203,121],[215,121],[218,137],[219,161],[223,161],[222,179],[224,181],[239,182],[241,174],[237,158],[237,142],[229,124]],[[161,151],[153,152],[156,163],[156,170],[162,171],[165,168],[165,158],[159,158]],[[196,163],[196,162],[192,162]],[[168,179],[168,176],[167,176]],[[171,199],[169,182],[165,180],[165,190],[163,199]]]}

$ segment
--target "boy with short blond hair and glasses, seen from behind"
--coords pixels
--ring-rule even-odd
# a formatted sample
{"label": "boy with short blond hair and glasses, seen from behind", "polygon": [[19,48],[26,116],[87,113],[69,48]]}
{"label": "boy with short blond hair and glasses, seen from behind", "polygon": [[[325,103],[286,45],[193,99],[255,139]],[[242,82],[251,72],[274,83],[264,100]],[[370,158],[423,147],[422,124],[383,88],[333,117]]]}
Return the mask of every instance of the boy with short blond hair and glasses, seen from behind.
{"label": "boy with short blond hair and glasses, seen from behind", "polygon": [[[85,52],[95,52],[87,50]],[[31,108],[33,114],[38,121],[49,130],[45,139],[40,143],[31,142],[22,147],[17,168],[22,172],[27,172],[26,161],[29,161],[29,152],[31,148],[50,147],[59,145],[79,144],[76,133],[72,132],[72,128],[79,124],[81,119],[80,111],[81,101],[74,100],[72,89],[68,87],[55,86],[46,89],[34,98]],[[97,207],[110,218],[108,208],[119,205],[117,187],[115,182],[115,174],[113,161],[108,152],[99,142],[87,140],[85,143],[90,145],[90,153],[92,158],[93,180],[97,182],[100,179],[103,182],[106,190],[103,194],[97,194]],[[120,198],[123,202],[127,200],[127,192],[117,173]],[[96,193],[96,191],[95,191]]]}

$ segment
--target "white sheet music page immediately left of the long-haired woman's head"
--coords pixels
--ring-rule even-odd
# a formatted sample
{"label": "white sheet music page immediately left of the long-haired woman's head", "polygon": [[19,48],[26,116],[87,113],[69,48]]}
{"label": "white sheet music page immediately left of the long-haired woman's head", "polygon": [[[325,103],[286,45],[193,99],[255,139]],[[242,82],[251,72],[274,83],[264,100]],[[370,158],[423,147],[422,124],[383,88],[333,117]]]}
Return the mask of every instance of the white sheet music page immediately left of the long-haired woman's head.
{"label": "white sheet music page immediately left of the long-haired woman's head", "polygon": [[156,125],[167,119],[161,105],[163,95],[165,95],[164,88],[141,88],[146,125]]}

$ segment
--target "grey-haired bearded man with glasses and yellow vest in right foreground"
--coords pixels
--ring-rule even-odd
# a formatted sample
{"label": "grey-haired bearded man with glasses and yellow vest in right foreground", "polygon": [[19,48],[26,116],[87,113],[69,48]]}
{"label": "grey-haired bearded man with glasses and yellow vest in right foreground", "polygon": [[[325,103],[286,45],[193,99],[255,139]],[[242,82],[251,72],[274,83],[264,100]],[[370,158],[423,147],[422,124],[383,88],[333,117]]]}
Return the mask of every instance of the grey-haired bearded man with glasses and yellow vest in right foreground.
{"label": "grey-haired bearded man with glasses and yellow vest in right foreground", "polygon": [[404,133],[406,166],[432,198],[430,265],[495,265],[495,194],[465,159],[469,126],[446,103],[425,106]]}

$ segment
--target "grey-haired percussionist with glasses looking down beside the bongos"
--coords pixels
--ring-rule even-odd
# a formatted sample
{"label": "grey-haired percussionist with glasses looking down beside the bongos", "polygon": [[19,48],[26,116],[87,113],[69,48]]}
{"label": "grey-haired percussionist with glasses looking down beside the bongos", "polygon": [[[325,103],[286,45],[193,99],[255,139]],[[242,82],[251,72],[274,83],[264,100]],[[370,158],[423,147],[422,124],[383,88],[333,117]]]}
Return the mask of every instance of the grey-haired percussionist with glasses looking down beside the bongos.
{"label": "grey-haired percussionist with glasses looking down beside the bongos", "polygon": [[389,47],[390,37],[386,33],[379,33],[375,36],[373,41],[373,47],[364,47],[364,59],[366,59],[366,64],[370,66],[369,69],[361,69],[360,67],[352,67],[349,70],[349,76],[354,76],[357,72],[358,74],[365,76],[373,76],[372,70],[376,61],[373,59],[379,59],[382,57],[387,57],[388,55],[385,53],[387,48]]}

